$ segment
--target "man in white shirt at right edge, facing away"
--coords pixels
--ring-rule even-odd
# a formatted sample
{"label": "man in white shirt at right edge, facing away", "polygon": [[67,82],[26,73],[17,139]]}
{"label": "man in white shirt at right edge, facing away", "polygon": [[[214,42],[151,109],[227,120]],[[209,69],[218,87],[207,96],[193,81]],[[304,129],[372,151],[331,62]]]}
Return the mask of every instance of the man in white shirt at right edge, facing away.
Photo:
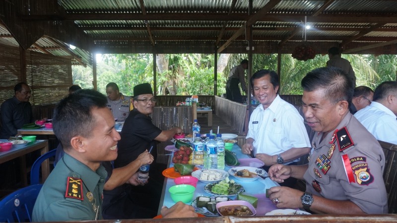
{"label": "man in white shirt at right edge, facing away", "polygon": [[397,81],[380,84],[371,105],[354,116],[377,140],[397,144]]}

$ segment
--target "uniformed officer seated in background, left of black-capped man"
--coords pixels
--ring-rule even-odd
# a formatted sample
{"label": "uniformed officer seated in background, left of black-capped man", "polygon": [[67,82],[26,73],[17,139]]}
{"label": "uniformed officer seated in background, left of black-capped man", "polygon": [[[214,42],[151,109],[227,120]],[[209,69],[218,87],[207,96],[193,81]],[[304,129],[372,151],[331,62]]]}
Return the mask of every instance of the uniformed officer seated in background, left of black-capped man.
{"label": "uniformed officer seated in background, left of black-capped man", "polygon": [[119,91],[116,83],[110,82],[106,85],[106,95],[108,96],[108,104],[106,105],[117,121],[125,121],[130,114],[132,107],[132,98],[125,96]]}

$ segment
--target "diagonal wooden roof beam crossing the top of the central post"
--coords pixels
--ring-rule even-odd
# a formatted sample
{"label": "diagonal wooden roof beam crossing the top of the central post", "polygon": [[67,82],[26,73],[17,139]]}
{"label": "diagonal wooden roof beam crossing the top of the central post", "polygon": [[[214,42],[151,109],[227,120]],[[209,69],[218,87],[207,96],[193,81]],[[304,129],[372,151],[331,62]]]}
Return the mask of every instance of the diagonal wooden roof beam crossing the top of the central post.
{"label": "diagonal wooden roof beam crossing the top of the central post", "polygon": [[262,16],[267,14],[267,12],[269,12],[280,1],[281,0],[269,0],[267,4],[265,4],[265,6],[261,8],[261,10],[259,10],[256,14],[249,16],[245,25],[243,25],[237,32],[235,32],[233,36],[226,41],[225,44],[218,48],[218,54],[221,53],[227,46],[229,46],[233,40],[241,36],[244,33],[246,27],[249,27],[252,24],[256,23],[259,19],[261,19]]}

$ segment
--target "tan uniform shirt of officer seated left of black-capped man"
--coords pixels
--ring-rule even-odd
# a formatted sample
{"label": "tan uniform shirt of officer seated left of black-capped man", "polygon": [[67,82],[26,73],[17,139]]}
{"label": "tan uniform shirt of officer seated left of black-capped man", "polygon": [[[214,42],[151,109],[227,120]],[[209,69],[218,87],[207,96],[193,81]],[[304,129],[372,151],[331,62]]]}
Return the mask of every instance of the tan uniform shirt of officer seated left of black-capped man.
{"label": "tan uniform shirt of officer seated left of black-capped man", "polygon": [[[121,94],[121,93],[120,93]],[[132,110],[132,98],[121,94],[121,97],[117,101],[112,101],[108,98],[106,106],[112,111],[113,116],[117,118],[117,121],[125,121]]]}

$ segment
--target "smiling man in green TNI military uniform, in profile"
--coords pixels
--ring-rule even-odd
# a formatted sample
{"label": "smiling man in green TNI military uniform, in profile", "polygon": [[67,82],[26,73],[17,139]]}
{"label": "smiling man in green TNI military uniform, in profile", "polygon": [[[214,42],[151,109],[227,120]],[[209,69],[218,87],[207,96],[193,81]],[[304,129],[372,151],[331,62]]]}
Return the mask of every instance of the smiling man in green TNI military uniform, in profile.
{"label": "smiling man in green TNI military uniform, in profile", "polygon": [[[153,162],[153,157],[145,151],[135,160],[136,164],[132,164],[133,161],[132,165],[114,169],[102,166],[117,158],[120,140],[106,103],[101,93],[80,90],[57,106],[54,132],[65,155],[40,190],[33,208],[34,222],[103,219],[103,189],[113,189],[127,181],[133,184],[136,173],[131,168],[136,170],[142,164]],[[164,218],[197,217],[193,207],[181,202],[169,209],[162,208],[161,214]]]}

